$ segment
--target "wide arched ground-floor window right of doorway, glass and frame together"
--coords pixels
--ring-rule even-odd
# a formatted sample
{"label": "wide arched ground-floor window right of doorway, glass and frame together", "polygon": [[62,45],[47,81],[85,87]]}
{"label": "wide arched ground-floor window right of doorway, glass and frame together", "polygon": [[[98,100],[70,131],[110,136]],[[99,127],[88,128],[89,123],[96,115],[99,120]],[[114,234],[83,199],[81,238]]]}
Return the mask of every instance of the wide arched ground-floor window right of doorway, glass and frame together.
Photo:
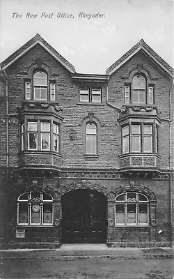
{"label": "wide arched ground-floor window right of doorway, glass and frame together", "polygon": [[141,193],[127,192],[116,197],[116,225],[149,225],[149,200]]}

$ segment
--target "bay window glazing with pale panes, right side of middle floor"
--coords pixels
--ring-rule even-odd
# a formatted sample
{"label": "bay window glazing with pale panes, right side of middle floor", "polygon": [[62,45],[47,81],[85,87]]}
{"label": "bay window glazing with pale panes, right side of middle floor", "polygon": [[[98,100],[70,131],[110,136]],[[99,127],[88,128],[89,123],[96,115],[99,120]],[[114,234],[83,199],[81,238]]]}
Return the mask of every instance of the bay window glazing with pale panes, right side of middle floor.
{"label": "bay window glazing with pale panes, right side of middle floor", "polygon": [[158,152],[158,126],[131,123],[122,127],[122,153]]}

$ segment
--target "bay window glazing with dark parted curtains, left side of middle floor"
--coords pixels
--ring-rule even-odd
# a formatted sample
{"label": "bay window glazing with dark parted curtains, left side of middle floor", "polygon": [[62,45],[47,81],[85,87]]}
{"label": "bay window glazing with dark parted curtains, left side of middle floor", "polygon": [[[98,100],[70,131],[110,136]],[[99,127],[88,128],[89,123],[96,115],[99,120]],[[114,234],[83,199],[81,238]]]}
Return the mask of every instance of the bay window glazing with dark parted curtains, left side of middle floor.
{"label": "bay window glazing with dark parted curtains, left side of middle floor", "polygon": [[[51,125],[52,124],[52,125]],[[21,148],[60,152],[59,125],[46,121],[28,121],[21,126]],[[26,133],[25,133],[26,130]],[[26,140],[25,140],[26,137]]]}

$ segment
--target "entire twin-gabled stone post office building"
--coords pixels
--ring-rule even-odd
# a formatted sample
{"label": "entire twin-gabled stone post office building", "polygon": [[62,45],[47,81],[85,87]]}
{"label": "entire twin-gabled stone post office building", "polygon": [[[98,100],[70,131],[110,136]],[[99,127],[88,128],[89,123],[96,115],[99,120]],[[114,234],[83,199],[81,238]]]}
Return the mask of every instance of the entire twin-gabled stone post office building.
{"label": "entire twin-gabled stone post office building", "polygon": [[38,34],[1,62],[1,248],[173,245],[173,74],[143,40],[106,75]]}

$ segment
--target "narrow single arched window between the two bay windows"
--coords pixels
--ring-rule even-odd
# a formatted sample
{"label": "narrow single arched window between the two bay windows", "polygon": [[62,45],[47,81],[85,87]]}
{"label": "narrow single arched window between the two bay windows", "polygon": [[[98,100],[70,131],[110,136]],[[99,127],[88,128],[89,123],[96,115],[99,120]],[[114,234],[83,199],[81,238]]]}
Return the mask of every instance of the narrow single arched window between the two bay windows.
{"label": "narrow single arched window between the two bay windows", "polygon": [[86,154],[97,154],[97,127],[95,123],[86,124]]}

